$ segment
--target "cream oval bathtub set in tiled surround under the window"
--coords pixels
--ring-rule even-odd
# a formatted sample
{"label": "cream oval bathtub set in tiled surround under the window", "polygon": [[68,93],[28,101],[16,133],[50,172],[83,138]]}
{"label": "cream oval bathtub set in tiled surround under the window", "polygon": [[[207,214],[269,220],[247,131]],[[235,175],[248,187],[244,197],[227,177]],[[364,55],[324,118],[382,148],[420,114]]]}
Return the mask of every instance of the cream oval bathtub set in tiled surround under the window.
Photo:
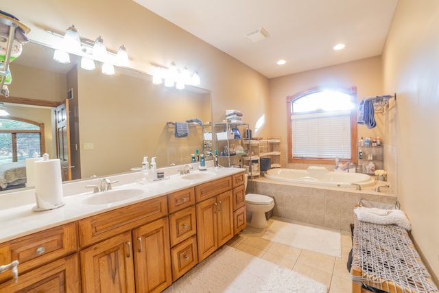
{"label": "cream oval bathtub set in tiled surround under the window", "polygon": [[369,186],[375,183],[375,178],[361,173],[329,172],[325,167],[308,167],[300,169],[269,169],[265,178],[309,185],[326,185],[338,187],[353,187],[352,183]]}

